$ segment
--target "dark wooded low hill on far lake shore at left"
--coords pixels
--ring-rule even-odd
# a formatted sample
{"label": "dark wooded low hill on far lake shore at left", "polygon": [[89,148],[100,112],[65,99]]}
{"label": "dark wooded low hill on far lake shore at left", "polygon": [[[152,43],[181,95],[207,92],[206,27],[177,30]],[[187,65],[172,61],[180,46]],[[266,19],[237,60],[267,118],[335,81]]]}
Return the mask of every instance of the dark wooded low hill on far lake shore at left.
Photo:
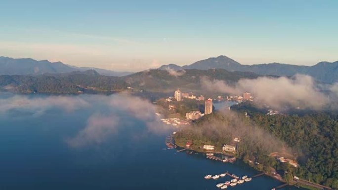
{"label": "dark wooded low hill on far lake shore at left", "polygon": [[95,71],[67,75],[0,76],[0,89],[16,93],[83,93],[127,89],[127,83],[116,76],[101,76]]}

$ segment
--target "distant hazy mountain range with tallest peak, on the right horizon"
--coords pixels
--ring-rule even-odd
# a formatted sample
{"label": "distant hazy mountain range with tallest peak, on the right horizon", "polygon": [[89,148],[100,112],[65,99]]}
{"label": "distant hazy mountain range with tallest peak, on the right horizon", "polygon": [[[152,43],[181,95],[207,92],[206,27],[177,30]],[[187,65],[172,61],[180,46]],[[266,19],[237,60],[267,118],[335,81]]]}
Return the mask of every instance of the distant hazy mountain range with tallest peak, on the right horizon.
{"label": "distant hazy mountain range with tallest peak, on the right horizon", "polygon": [[169,64],[163,65],[159,69],[179,71],[185,69],[208,70],[213,68],[225,69],[227,71],[253,72],[257,75],[294,76],[296,74],[304,74],[325,83],[338,82],[338,61],[333,63],[319,62],[314,66],[299,66],[282,63],[242,65],[227,56],[221,55],[197,61],[191,65],[181,67],[175,64]]}

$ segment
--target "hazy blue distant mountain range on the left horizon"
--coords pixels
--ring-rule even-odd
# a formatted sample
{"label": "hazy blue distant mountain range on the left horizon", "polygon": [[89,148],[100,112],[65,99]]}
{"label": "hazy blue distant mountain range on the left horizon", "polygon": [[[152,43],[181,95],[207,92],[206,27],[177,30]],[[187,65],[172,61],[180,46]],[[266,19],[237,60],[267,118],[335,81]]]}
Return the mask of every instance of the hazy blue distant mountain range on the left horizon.
{"label": "hazy blue distant mountain range on the left horizon", "polygon": [[132,74],[131,72],[115,72],[98,68],[75,67],[62,62],[50,62],[48,60],[37,61],[31,58],[13,59],[3,56],[0,56],[0,68],[0,75],[42,75],[46,73],[58,74],[86,70],[95,70],[104,76],[125,76]]}

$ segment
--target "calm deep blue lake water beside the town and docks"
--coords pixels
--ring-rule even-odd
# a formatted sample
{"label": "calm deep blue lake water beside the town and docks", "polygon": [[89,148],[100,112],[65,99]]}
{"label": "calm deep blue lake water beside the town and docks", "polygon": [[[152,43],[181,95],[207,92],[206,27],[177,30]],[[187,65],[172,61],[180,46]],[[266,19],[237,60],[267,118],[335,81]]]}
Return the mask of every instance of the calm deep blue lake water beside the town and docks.
{"label": "calm deep blue lake water beside the town and docks", "polygon": [[[39,101],[34,101],[37,98]],[[113,95],[115,101],[121,101],[119,106],[111,106],[105,98],[81,95],[59,100],[0,94],[0,189],[216,190],[215,185],[229,181],[229,177],[215,181],[205,180],[205,175],[225,171],[239,176],[258,173],[240,160],[221,163],[202,154],[163,150],[170,132],[153,132],[139,116],[121,110],[120,106],[128,101],[124,96]],[[79,99],[90,105],[68,103]],[[84,130],[88,125],[96,126],[95,120],[88,120],[93,115],[116,117],[119,122],[114,131],[100,128],[100,124],[106,125],[105,119],[97,121],[100,132],[95,127]],[[79,136],[81,131],[90,135]],[[69,139],[74,137],[89,143],[71,146]],[[261,176],[229,189],[270,190],[280,184]]]}

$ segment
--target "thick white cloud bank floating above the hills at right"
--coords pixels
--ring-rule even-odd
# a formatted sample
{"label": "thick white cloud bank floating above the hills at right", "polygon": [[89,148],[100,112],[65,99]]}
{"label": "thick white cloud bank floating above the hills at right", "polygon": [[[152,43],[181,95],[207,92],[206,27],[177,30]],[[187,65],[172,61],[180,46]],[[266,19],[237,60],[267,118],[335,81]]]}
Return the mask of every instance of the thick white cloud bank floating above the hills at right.
{"label": "thick white cloud bank floating above the hills at right", "polygon": [[311,76],[258,77],[240,79],[231,86],[221,80],[202,78],[202,87],[213,92],[241,95],[251,92],[255,102],[265,103],[273,108],[283,106],[322,109],[328,103],[327,96],[317,87]]}

